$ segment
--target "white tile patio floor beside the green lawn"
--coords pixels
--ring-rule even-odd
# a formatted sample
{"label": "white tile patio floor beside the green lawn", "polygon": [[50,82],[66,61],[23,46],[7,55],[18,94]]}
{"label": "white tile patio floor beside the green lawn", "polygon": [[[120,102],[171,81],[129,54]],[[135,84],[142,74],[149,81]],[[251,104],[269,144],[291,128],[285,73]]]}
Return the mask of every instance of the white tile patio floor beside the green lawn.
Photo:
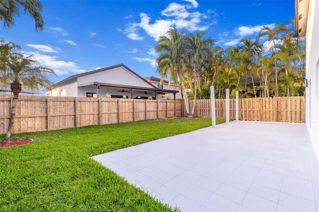
{"label": "white tile patio floor beside the green lawn", "polygon": [[233,121],[93,158],[182,212],[319,212],[305,124]]}

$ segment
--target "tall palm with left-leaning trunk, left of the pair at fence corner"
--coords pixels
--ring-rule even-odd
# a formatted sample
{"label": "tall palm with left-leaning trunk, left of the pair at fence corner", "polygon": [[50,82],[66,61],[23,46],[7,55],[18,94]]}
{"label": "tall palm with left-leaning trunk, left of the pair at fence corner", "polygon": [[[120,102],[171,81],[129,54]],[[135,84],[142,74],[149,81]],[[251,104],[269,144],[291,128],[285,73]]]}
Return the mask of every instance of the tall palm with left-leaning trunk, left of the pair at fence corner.
{"label": "tall palm with left-leaning trunk, left of the pair at fence corner", "polygon": [[160,36],[158,45],[155,47],[156,53],[160,53],[157,59],[156,73],[160,73],[160,80],[169,78],[169,81],[177,82],[179,79],[186,109],[186,115],[191,116],[188,106],[188,98],[184,84],[183,66],[188,57],[187,40],[183,35],[183,30],[179,33],[177,29],[170,28],[167,31],[168,37]]}

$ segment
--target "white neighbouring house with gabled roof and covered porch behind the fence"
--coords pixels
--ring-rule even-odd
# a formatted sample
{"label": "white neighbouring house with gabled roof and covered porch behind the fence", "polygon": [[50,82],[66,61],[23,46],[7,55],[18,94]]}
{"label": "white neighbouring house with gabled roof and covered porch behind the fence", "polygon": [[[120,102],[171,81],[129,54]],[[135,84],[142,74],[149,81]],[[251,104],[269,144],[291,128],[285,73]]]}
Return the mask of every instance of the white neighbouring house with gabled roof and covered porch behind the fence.
{"label": "white neighbouring house with gabled roof and covered porch behind the fence", "polygon": [[176,93],[160,89],[142,78],[124,64],[110,66],[68,77],[48,89],[46,96],[95,97],[127,99],[160,99],[162,95]]}

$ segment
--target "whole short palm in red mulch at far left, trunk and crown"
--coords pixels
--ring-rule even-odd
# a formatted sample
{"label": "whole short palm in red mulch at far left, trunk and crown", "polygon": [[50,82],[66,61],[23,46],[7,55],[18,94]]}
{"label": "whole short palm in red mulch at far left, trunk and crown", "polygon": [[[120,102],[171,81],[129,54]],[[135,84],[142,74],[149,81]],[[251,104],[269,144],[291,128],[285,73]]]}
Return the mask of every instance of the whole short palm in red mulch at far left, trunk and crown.
{"label": "whole short palm in red mulch at far left, trunk and crown", "polygon": [[[0,49],[2,46],[0,45]],[[2,56],[2,55],[1,55]],[[12,126],[14,123],[15,111],[17,100],[21,92],[21,85],[30,81],[30,77],[40,82],[40,85],[51,85],[51,81],[45,76],[46,74],[55,75],[54,71],[42,66],[34,66],[37,61],[33,60],[33,56],[23,56],[14,52],[8,52],[8,58],[6,60],[6,72],[5,78],[9,80],[11,85],[11,92],[13,93],[11,108],[10,108],[10,120],[7,128],[7,133],[2,141],[10,141]],[[0,76],[2,79],[2,76]]]}

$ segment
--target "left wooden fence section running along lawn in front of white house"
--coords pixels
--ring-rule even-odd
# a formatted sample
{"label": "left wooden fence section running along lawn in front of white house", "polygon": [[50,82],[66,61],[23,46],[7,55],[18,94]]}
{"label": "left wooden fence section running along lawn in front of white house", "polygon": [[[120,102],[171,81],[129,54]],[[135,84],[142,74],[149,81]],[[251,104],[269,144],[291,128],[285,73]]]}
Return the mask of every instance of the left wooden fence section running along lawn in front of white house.
{"label": "left wooden fence section running along lawn in front of white house", "polygon": [[[0,134],[6,133],[11,95],[0,95]],[[168,100],[19,96],[12,133],[48,131],[183,115],[183,103]]]}

